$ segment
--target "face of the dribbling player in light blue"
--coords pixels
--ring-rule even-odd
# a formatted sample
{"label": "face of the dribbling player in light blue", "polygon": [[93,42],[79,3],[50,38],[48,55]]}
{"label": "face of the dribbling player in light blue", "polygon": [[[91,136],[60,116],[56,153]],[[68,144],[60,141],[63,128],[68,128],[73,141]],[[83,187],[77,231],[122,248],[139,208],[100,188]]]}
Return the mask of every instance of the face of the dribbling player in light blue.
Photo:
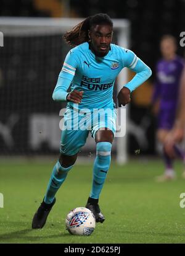
{"label": "face of the dribbling player in light blue", "polygon": [[96,56],[107,55],[112,42],[112,33],[110,25],[96,25],[89,31],[91,48]]}

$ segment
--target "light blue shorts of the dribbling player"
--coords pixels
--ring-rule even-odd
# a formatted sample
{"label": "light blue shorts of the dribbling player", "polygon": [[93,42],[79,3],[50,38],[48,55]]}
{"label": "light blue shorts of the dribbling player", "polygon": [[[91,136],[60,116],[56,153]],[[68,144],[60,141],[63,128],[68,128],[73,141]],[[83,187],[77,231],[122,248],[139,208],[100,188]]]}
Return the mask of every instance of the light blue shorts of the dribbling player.
{"label": "light blue shorts of the dribbling player", "polygon": [[67,107],[60,139],[60,153],[73,156],[84,146],[89,132],[95,139],[96,131],[100,128],[109,128],[115,135],[116,119],[116,108],[89,112]]}

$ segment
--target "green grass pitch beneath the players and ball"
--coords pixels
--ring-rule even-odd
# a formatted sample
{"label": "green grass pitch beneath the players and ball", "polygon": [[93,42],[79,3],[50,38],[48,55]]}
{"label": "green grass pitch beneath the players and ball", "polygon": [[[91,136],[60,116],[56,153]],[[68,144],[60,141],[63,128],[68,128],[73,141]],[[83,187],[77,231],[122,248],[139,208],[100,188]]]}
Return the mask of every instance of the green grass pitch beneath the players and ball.
{"label": "green grass pitch beneath the players and ball", "polygon": [[33,214],[46,190],[54,161],[1,161],[0,243],[184,243],[185,208],[179,195],[185,192],[183,165],[176,162],[177,180],[157,183],[162,161],[133,160],[123,167],[112,162],[100,198],[105,215],[89,237],[65,230],[65,216],[84,206],[91,187],[92,164],[73,167],[57,193],[57,202],[41,230],[31,229]]}

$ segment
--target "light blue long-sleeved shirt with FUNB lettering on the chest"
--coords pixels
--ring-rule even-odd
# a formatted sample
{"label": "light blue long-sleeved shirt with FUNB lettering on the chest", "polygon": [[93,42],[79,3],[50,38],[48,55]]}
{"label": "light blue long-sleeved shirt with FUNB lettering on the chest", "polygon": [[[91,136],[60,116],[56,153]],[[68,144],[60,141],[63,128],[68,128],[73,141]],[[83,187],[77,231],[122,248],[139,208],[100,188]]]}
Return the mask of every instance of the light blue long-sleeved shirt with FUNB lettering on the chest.
{"label": "light blue long-sleeved shirt with FUNB lettering on the chest", "polygon": [[83,90],[81,104],[68,102],[68,106],[78,109],[113,108],[113,85],[121,69],[136,72],[133,79],[125,84],[132,92],[152,74],[150,68],[131,50],[110,44],[104,57],[95,56],[85,42],[70,50],[65,58],[53,92],[54,100],[66,100],[67,89]]}

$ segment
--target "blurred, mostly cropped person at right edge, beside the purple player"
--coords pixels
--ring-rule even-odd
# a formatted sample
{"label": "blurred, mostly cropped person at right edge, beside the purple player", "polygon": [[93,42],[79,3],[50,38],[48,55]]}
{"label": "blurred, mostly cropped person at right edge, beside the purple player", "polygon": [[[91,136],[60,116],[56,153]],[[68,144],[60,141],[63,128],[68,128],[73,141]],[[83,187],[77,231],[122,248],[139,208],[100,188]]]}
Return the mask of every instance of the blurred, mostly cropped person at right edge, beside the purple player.
{"label": "blurred, mostly cropped person at right edge, beside the purple player", "polygon": [[[179,104],[178,104],[178,113],[176,115],[175,125],[171,130],[170,134],[165,140],[165,151],[168,156],[173,158],[176,157],[176,144],[183,141],[185,136],[185,68],[183,70],[183,76],[181,79],[181,87],[179,90]],[[183,173],[185,178],[185,172]]]}

